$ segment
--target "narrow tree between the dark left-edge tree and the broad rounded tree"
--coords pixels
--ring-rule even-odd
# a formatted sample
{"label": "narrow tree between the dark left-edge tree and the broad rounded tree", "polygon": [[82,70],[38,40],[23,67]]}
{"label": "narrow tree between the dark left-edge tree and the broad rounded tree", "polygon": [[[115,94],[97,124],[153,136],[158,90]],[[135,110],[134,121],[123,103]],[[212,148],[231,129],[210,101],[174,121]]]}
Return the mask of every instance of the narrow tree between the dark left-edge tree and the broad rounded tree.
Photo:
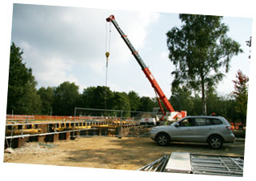
{"label": "narrow tree between the dark left-edge tree and the broad rounded tree", "polygon": [[42,114],[51,115],[53,111],[54,90],[50,87],[38,89],[38,95],[42,100]]}

